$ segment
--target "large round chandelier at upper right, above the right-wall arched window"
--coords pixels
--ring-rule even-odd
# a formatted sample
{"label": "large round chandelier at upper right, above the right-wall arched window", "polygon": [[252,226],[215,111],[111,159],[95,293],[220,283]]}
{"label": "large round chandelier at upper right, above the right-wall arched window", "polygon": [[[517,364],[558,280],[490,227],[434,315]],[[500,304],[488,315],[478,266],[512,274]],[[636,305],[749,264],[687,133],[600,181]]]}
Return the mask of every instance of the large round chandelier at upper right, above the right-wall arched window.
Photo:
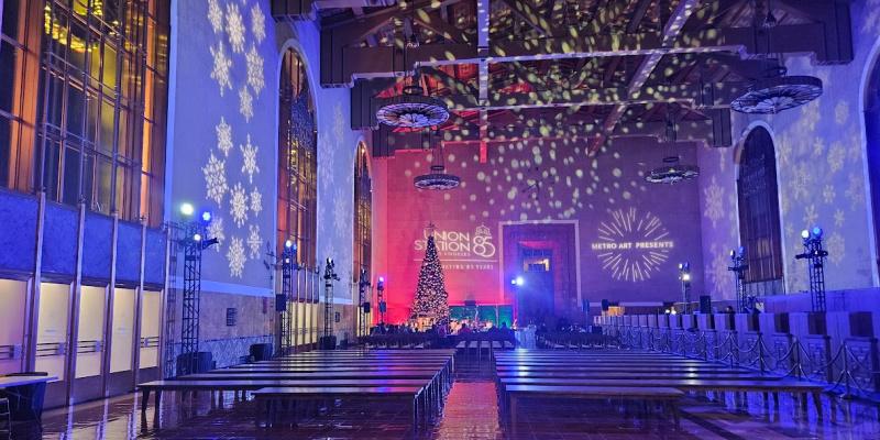
{"label": "large round chandelier at upper right, above the right-wall arched window", "polygon": [[779,76],[759,79],[730,102],[740,113],[776,114],[803,106],[822,96],[822,80],[812,76]]}

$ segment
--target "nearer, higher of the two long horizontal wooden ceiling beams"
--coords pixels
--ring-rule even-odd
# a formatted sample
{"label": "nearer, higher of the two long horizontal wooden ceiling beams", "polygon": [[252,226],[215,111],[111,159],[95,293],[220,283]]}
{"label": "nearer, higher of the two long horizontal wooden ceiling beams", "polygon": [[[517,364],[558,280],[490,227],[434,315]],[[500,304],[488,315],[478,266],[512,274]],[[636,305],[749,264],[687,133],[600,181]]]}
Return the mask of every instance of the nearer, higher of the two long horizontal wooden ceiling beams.
{"label": "nearer, higher of the two long horizontal wooden ceiling beams", "polygon": [[[843,40],[829,35],[823,23],[782,25],[770,30],[768,38],[755,28],[728,28],[684,33],[663,45],[657,33],[635,35],[593,35],[582,38],[559,37],[524,41],[497,41],[480,56],[471,44],[422,44],[407,51],[396,47],[338,47],[331,38],[321,37],[321,84],[351,85],[356,78],[400,76],[415,65],[512,63],[534,59],[591,58],[609,56],[700,54],[727,52],[745,57],[762,57],[766,53],[812,53],[818,63],[851,61],[851,52],[828,46],[828,41]],[[836,31],[835,31],[836,32]],[[667,38],[669,40],[669,38]]]}

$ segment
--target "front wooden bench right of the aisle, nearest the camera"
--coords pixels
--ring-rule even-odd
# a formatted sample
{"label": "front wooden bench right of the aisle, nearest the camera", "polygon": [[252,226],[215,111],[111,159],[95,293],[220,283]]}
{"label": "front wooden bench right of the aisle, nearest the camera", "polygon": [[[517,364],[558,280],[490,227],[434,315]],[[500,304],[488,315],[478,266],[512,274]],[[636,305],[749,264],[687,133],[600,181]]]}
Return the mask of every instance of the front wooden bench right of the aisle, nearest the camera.
{"label": "front wooden bench right of the aisle, nearest the camera", "polygon": [[573,399],[620,399],[629,402],[659,402],[672,414],[679,427],[679,400],[684,392],[671,387],[614,387],[581,385],[510,385],[505,391],[507,410],[513,433],[517,430],[518,400],[522,398],[552,397]]}

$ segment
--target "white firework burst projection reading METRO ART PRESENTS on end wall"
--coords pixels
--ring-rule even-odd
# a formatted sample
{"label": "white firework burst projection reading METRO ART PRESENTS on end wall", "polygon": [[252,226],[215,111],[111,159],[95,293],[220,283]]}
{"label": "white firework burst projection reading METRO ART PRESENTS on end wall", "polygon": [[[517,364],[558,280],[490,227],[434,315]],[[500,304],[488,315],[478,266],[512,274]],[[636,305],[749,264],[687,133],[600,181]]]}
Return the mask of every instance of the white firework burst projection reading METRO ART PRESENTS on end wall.
{"label": "white firework burst projection reading METRO ART PRESENTS on end wall", "polygon": [[659,272],[675,246],[660,218],[636,208],[610,211],[610,219],[600,223],[597,241],[591,248],[614,279],[644,282]]}

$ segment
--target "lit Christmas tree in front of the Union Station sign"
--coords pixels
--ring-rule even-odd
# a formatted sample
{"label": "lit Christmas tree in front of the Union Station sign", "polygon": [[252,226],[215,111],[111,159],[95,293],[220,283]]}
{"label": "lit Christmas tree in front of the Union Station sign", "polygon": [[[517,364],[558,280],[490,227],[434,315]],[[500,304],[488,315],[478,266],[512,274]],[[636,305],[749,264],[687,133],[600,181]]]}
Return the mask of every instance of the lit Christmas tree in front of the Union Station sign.
{"label": "lit Christmas tree in front of the Union Station sign", "polygon": [[419,283],[416,287],[416,299],[413,304],[413,318],[432,318],[435,323],[444,326],[449,322],[449,295],[443,282],[443,267],[437,256],[433,233],[428,235],[425,260],[419,270]]}

